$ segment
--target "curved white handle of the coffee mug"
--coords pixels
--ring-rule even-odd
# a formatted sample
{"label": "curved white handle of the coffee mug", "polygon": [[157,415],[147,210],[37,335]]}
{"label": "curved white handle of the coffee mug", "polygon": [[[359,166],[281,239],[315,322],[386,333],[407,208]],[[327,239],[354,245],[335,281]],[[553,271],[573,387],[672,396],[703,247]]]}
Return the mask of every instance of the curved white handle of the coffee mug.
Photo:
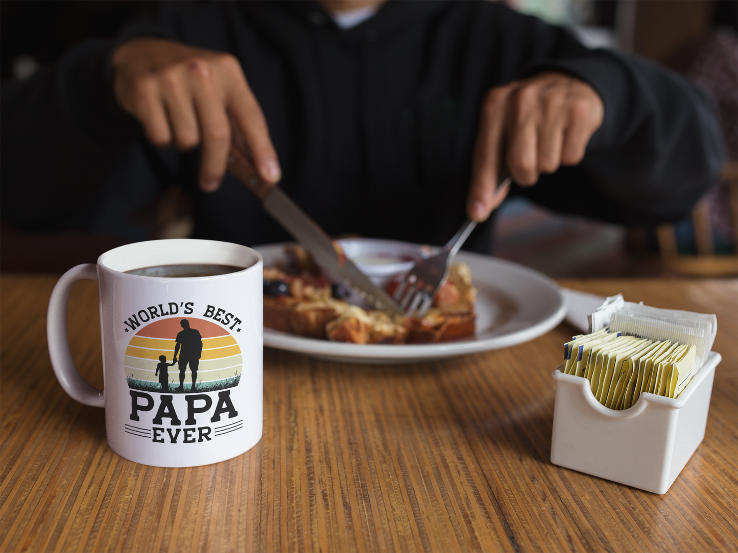
{"label": "curved white handle of the coffee mug", "polygon": [[69,334],[66,331],[66,310],[69,292],[80,280],[97,281],[97,265],[83,263],[72,267],[61,276],[49,299],[46,315],[46,338],[49,342],[49,358],[56,379],[64,392],[73,400],[92,407],[105,407],[105,392],[98,390],[82,378],[69,351]]}

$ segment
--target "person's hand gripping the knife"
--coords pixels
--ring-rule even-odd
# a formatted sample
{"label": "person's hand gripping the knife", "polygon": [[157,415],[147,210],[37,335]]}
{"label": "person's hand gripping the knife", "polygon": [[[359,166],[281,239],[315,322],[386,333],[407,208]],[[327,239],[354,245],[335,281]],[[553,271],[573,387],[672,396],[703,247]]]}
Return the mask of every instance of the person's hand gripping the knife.
{"label": "person's hand gripping the knife", "polygon": [[246,143],[261,180],[279,181],[266,120],[232,55],[136,38],[119,46],[112,61],[115,97],[154,145],[173,143],[180,150],[202,145],[201,189],[212,192],[220,186],[232,131]]}

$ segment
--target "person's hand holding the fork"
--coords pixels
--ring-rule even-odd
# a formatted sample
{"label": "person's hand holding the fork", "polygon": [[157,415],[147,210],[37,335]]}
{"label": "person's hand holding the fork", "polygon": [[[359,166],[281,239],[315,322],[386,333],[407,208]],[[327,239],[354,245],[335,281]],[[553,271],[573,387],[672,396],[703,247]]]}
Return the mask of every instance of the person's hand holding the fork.
{"label": "person's hand holding the fork", "polygon": [[499,206],[508,188],[497,188],[507,169],[521,186],[540,173],[584,158],[602,124],[604,105],[594,88],[560,73],[544,73],[492,88],[484,98],[466,211],[480,222]]}

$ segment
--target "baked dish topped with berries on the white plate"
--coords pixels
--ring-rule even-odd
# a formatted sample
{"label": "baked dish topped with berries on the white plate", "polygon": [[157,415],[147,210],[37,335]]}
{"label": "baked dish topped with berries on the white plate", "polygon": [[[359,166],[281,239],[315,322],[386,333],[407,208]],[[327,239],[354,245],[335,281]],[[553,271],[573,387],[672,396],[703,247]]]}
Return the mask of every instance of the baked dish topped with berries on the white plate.
{"label": "baked dish topped with berries on the white plate", "polygon": [[[287,246],[284,268],[263,270],[264,326],[286,333],[354,344],[421,344],[465,338],[475,332],[476,288],[465,263],[451,266],[424,317],[364,310],[345,301],[300,246]],[[392,293],[396,282],[391,282]]]}

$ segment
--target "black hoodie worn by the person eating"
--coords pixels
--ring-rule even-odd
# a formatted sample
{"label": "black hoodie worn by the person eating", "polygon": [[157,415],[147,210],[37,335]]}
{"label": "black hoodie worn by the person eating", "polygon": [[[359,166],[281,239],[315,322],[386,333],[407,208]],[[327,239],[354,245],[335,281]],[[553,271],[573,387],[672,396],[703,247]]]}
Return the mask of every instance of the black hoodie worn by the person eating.
{"label": "black hoodie worn by the person eating", "polygon": [[[195,237],[289,239],[232,176],[217,192],[200,192],[199,152],[147,145],[117,106],[111,51],[137,35],[240,60],[269,125],[281,186],[329,234],[448,240],[465,217],[483,95],[540,72],[593,86],[604,122],[582,163],[514,194],[561,212],[658,223],[686,215],[725,158],[714,111],[695,86],[649,61],[586,49],[502,2],[389,0],[342,30],[316,1],[177,1],[154,24],[80,44],[57,66],[0,88],[6,223],[89,228],[101,198],[125,203],[142,183],[175,180],[193,195]],[[486,250],[489,232],[478,229],[470,246]]]}

